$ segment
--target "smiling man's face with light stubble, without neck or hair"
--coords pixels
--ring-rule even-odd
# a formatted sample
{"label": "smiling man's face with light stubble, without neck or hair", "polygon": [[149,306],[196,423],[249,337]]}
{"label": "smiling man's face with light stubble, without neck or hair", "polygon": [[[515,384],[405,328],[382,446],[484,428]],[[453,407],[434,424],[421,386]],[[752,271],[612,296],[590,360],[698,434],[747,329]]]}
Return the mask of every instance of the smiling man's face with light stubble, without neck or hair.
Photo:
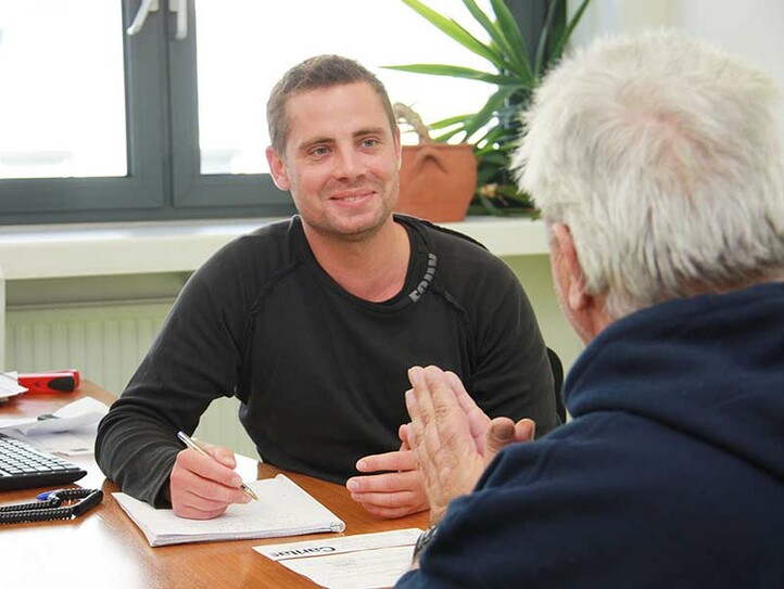
{"label": "smiling man's face with light stubble, without neck or hair", "polygon": [[267,150],[267,158],[304,223],[332,239],[375,233],[400,187],[400,133],[376,91],[366,82],[307,90],[287,100],[286,116],[282,157]]}

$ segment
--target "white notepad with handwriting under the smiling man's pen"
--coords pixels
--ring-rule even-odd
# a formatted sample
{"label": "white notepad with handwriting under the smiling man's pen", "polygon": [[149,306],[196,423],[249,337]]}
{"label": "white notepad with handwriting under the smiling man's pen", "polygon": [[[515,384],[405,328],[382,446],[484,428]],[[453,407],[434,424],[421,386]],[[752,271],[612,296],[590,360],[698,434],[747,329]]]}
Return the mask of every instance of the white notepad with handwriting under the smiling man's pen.
{"label": "white notepad with handwriting under the smiling man's pen", "polygon": [[150,546],[343,532],[345,524],[289,477],[249,482],[258,501],[232,504],[214,520],[186,520],[124,492],[112,494]]}

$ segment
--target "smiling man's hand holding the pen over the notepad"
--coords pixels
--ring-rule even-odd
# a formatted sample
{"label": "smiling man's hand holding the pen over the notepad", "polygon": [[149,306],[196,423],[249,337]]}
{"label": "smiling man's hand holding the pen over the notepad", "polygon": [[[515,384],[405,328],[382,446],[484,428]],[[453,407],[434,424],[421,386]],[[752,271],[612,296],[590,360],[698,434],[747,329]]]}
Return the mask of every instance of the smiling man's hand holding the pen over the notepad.
{"label": "smiling man's hand holding the pen over the notepad", "polygon": [[235,472],[237,461],[228,448],[206,447],[215,460],[187,448],[177,454],[169,475],[169,495],[176,515],[189,520],[212,520],[231,503],[251,499],[240,489],[242,478]]}

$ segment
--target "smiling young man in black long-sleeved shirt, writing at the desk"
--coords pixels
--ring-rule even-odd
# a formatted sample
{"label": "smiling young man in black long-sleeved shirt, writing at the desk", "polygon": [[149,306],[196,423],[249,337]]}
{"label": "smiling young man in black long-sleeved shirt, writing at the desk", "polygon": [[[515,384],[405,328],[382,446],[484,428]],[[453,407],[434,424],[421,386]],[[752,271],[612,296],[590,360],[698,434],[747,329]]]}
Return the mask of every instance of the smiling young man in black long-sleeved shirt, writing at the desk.
{"label": "smiling young man in black long-sleeved shirt, writing at the desk", "polygon": [[125,492],[178,515],[244,502],[233,454],[178,445],[219,396],[260,456],[345,483],[382,517],[426,509],[403,393],[448,367],[491,415],[557,424],[539,326],[516,277],[481,245],[393,216],[400,132],[381,82],[334,55],[290,69],[267,104],[276,184],[299,215],[220,249],[191,278],[101,422],[96,457]]}

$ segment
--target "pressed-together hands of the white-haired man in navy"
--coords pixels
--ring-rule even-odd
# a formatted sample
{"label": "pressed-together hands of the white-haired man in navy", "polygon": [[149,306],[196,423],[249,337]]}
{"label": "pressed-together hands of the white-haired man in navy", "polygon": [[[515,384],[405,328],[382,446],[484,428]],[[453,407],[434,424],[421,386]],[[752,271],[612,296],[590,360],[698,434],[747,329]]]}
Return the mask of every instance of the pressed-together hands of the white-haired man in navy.
{"label": "pressed-together hands of the white-haired man in navy", "polygon": [[412,418],[407,439],[430,503],[430,518],[438,523],[452,499],[473,489],[502,448],[533,438],[534,424],[491,420],[460,380],[438,367],[414,367],[408,377],[414,388],[406,392]]}

